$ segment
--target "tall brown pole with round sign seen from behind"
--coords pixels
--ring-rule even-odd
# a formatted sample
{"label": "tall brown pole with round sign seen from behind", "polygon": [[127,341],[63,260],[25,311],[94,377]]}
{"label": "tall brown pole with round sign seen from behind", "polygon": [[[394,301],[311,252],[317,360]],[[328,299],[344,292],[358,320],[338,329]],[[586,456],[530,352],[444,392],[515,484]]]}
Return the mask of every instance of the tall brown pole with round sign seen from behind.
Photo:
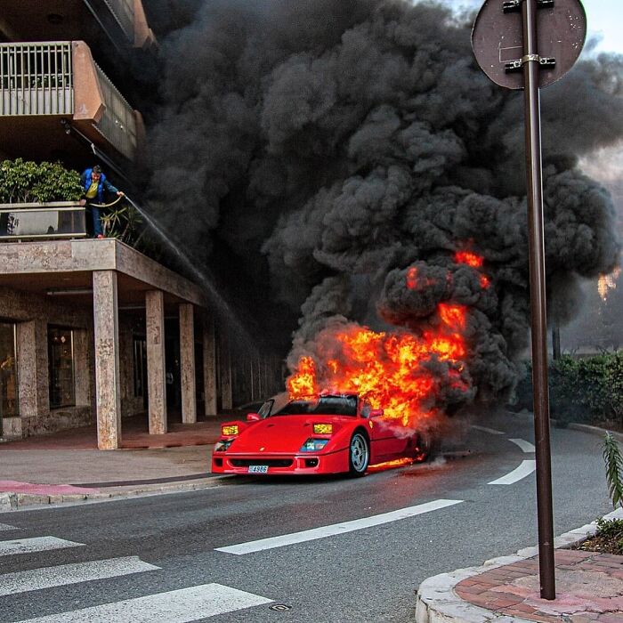
{"label": "tall brown pole with round sign seen from behind", "polygon": [[587,15],[580,0],[484,0],[472,32],[473,53],[482,71],[506,89],[523,89],[538,559],[541,597],[550,600],[556,597],[556,587],[539,89],[553,84],[573,67],[582,52],[586,37]]}

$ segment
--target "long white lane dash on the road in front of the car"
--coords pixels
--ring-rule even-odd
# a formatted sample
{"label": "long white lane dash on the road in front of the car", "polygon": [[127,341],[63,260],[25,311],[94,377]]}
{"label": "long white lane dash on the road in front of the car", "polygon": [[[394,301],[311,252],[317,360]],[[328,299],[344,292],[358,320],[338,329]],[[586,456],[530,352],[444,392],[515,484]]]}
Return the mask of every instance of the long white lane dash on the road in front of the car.
{"label": "long white lane dash on the road in front of the car", "polygon": [[399,519],[409,519],[409,517],[415,517],[418,514],[430,513],[440,508],[461,504],[461,502],[463,502],[463,500],[460,499],[437,499],[433,502],[427,502],[426,504],[401,508],[391,513],[376,514],[371,517],[355,519],[352,522],[334,523],[330,526],[322,526],[321,528],[314,528],[312,530],[284,534],[280,537],[262,538],[258,541],[249,541],[235,546],[216,547],[216,551],[237,555],[261,552],[264,549],[304,543],[305,541],[312,541],[316,538],[334,537],[337,534],[344,534],[345,532],[352,532],[353,530],[363,530],[364,528],[379,526],[383,523],[396,522]]}

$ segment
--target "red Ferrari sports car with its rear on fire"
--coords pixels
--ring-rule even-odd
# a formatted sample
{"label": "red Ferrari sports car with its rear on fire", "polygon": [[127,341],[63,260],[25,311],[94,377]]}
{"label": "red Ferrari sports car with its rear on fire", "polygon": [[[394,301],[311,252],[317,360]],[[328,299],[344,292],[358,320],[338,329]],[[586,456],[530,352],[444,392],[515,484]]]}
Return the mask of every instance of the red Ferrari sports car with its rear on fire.
{"label": "red Ferrari sports car with its rear on fire", "polygon": [[383,416],[357,393],[291,400],[267,417],[249,413],[221,426],[212,472],[363,476],[368,465],[425,460],[425,435]]}

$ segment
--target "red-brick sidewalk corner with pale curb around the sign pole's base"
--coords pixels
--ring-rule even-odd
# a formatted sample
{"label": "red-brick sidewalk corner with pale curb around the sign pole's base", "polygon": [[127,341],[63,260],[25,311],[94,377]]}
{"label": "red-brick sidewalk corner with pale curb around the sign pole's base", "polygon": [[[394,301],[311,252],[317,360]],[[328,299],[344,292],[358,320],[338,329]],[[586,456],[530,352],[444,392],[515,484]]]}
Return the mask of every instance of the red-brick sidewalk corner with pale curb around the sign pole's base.
{"label": "red-brick sidewalk corner with pale curb around the sign pole's base", "polygon": [[[622,519],[623,509],[607,517]],[[555,539],[555,600],[540,598],[537,548],[530,547],[426,579],[417,623],[623,623],[623,556],[562,549],[595,530],[591,523]]]}

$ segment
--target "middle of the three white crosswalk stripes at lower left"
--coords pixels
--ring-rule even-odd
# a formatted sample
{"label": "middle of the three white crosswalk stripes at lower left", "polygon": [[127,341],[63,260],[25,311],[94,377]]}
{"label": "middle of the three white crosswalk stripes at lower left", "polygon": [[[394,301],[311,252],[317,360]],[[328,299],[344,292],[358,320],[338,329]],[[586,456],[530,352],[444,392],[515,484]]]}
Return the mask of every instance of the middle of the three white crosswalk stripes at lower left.
{"label": "middle of the three white crosswalk stripes at lower left", "polygon": [[0,576],[0,595],[28,593],[28,591],[38,591],[42,588],[66,587],[69,584],[79,584],[94,579],[117,578],[130,575],[130,573],[158,569],[160,567],[149,562],[142,562],[138,556],[128,556],[6,573]]}

